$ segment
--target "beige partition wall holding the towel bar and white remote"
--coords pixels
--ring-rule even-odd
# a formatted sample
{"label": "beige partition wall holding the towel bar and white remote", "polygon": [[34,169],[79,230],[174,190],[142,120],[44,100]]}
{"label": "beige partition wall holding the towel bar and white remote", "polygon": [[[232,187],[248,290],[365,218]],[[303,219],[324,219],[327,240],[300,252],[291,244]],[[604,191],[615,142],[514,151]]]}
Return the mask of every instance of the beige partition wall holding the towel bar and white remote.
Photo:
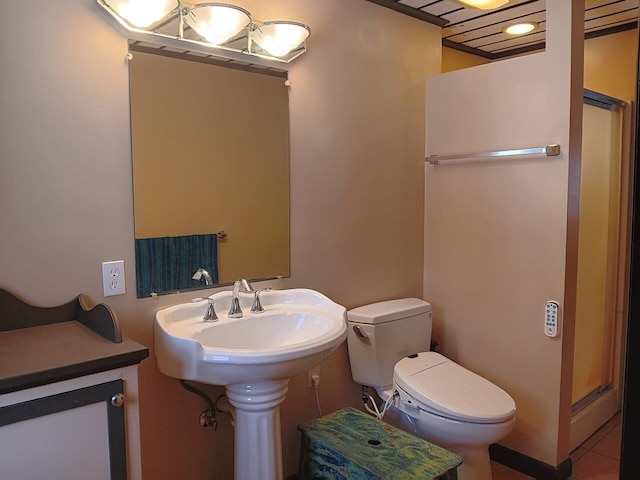
{"label": "beige partition wall holding the towel bar and white remote", "polygon": [[[555,158],[425,173],[434,334],[446,355],[514,397],[516,426],[501,443],[554,466],[569,454],[583,52],[571,26],[582,28],[580,3],[548,2],[545,52],[427,80],[429,154],[562,148]],[[559,338],[543,333],[547,300],[563,309]]]}

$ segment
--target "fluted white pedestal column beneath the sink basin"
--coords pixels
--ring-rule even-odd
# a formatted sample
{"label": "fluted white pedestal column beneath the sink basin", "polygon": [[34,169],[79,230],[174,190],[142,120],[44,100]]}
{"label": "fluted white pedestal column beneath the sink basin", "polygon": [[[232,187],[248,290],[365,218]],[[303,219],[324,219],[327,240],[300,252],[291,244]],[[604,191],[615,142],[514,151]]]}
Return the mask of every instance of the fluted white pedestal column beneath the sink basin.
{"label": "fluted white pedestal column beneath the sink basin", "polygon": [[282,480],[279,405],[288,386],[289,380],[227,385],[236,408],[236,480]]}

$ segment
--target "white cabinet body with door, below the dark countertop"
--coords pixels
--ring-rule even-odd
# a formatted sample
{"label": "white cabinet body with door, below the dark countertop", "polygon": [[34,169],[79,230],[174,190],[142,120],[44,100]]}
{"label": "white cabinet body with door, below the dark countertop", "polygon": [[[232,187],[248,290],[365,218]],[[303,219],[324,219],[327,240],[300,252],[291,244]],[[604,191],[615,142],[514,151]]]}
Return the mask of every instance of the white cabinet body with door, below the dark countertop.
{"label": "white cabinet body with door, below the dark countertop", "polygon": [[140,479],[137,398],[136,366],[0,395],[0,478]]}

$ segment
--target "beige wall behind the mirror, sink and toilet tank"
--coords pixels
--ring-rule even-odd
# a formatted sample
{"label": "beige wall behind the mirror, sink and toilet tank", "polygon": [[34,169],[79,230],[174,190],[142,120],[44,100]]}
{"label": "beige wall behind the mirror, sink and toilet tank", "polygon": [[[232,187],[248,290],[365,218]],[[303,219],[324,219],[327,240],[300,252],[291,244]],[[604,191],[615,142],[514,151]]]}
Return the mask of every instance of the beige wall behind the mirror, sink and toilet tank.
{"label": "beige wall behind the mirror, sink and toilet tank", "polygon": [[[242,6],[312,29],[289,76],[292,275],[271,285],[348,308],[421,296],[424,79],[440,70],[439,28],[364,0]],[[229,420],[202,429],[204,402],[155,366],[154,314],[190,296],[135,296],[126,39],[92,0],[21,7],[20,21],[0,20],[0,286],[40,305],[78,293],[102,302],[100,263],[124,259],[127,294],[106,301],[151,348],[140,366],[143,476],[230,479]],[[360,404],[346,346],[323,364],[319,391],[325,412]],[[296,425],[316,416],[305,376],[281,411],[291,475]]]}

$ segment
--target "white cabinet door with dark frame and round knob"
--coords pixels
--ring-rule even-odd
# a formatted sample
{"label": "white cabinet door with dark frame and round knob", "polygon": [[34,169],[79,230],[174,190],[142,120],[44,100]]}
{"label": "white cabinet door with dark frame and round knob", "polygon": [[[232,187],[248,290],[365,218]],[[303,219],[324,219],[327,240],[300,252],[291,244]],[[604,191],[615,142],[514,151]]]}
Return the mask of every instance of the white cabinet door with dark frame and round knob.
{"label": "white cabinet door with dark frame and round knob", "polygon": [[127,477],[123,382],[0,408],[0,478]]}

